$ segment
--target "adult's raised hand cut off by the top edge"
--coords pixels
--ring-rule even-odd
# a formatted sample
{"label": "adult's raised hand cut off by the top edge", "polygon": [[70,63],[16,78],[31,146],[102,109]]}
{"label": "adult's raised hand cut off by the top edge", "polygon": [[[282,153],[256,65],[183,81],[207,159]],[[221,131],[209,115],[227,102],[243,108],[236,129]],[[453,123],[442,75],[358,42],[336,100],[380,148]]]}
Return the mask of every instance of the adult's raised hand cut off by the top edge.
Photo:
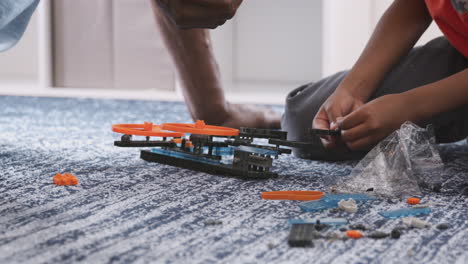
{"label": "adult's raised hand cut off by the top edge", "polygon": [[242,0],[154,0],[182,29],[214,29],[234,17]]}

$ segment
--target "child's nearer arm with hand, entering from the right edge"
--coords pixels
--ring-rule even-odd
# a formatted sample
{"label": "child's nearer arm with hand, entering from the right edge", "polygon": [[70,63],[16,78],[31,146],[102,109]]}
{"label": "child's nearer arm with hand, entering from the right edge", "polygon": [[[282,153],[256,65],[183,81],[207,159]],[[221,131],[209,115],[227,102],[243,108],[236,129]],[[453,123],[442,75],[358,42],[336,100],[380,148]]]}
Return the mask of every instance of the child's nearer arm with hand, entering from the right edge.
{"label": "child's nearer arm with hand, entering from the right edge", "polygon": [[342,138],[353,150],[366,149],[405,121],[423,121],[468,104],[468,70],[440,81],[382,96],[351,113],[341,122]]}

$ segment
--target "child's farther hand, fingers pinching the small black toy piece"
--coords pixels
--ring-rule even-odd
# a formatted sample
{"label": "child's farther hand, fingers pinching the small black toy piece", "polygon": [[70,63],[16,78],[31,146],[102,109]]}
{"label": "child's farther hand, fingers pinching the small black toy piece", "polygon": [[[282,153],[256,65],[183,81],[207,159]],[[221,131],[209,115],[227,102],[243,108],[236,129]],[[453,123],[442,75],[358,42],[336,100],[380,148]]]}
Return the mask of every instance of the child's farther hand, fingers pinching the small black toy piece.
{"label": "child's farther hand, fingers pinching the small black toy piece", "polygon": [[[316,129],[338,129],[337,121],[363,104],[362,100],[354,97],[345,89],[337,89],[320,107],[312,127]],[[325,148],[337,148],[342,145],[339,137],[322,136],[321,140]]]}

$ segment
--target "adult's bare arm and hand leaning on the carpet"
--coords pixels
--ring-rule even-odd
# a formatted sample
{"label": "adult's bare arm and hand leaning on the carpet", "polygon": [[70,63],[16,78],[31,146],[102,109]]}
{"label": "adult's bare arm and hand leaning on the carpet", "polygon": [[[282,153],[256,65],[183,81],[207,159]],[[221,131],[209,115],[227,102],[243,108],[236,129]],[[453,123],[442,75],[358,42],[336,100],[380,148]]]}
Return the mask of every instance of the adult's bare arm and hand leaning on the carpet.
{"label": "adult's bare arm and hand leaning on the carpet", "polygon": [[175,63],[185,102],[194,120],[201,119],[207,124],[229,127],[280,127],[280,116],[272,110],[226,101],[208,30],[180,29],[156,2],[152,3],[157,24]]}

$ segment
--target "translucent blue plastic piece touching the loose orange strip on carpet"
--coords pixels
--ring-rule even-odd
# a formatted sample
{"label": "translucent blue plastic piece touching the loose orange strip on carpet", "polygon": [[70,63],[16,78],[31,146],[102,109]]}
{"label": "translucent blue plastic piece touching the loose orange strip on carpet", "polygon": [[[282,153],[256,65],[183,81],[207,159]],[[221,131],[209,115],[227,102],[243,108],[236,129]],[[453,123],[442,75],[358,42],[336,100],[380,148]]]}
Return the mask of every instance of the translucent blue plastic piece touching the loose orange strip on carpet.
{"label": "translucent blue plastic piece touching the loose orange strip on carpet", "polygon": [[366,194],[325,194],[322,199],[300,203],[299,207],[304,212],[319,212],[331,208],[337,208],[339,201],[348,200],[350,198],[354,199],[358,203],[376,200],[376,198]]}

